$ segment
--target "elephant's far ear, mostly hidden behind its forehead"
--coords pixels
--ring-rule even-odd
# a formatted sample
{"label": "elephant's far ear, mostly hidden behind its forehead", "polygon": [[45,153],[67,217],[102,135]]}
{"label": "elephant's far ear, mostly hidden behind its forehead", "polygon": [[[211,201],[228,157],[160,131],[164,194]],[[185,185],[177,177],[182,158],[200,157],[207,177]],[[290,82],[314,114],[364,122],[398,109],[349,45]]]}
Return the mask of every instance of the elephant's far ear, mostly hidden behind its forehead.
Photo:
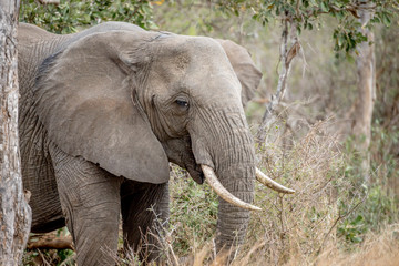
{"label": "elephant's far ear, mostly hidden behind its forehead", "polygon": [[242,84],[242,101],[246,103],[254,98],[259,85],[262,72],[255,66],[248,51],[229,40],[217,40],[225,50],[227,58]]}

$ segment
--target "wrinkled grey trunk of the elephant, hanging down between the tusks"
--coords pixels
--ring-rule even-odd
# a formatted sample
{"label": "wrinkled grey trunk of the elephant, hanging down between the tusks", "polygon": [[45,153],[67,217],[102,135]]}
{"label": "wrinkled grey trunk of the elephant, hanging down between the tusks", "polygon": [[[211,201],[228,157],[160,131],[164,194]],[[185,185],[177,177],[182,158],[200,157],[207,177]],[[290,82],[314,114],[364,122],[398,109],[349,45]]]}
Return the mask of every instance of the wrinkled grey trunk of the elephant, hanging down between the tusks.
{"label": "wrinkled grey trunk of the elephant, hanging down between the tusks", "polygon": [[[200,120],[195,123],[197,127],[190,130],[196,162],[212,167],[222,185],[235,197],[252,203],[255,151],[244,112],[242,110],[203,112],[197,119]],[[219,197],[217,250],[242,244],[248,222],[248,209]]]}

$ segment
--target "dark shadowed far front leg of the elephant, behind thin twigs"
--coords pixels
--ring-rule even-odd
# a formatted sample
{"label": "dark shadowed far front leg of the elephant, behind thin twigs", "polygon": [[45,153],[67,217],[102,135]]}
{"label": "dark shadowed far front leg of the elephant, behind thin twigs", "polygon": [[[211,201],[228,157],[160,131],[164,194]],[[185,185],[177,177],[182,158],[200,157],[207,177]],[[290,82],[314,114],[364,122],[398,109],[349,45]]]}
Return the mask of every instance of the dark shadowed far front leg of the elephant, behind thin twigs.
{"label": "dark shadowed far front leg of the elephant, behind thin twigs", "polygon": [[121,187],[125,250],[139,252],[142,262],[160,255],[160,236],[167,226],[168,184],[125,181]]}

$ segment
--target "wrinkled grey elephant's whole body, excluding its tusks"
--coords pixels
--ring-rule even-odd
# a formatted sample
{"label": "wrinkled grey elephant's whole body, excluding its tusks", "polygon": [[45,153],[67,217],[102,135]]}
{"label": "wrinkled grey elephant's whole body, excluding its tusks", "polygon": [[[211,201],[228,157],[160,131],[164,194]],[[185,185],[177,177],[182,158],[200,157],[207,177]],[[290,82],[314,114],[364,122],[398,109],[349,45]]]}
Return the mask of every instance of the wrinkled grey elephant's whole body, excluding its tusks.
{"label": "wrinkled grey elephant's whole body, excluding its tusks", "polygon": [[[18,45],[32,232],[66,224],[79,265],[113,265],[102,250],[115,253],[121,213],[133,247],[153,224],[150,207],[167,219],[168,162],[197,183],[200,165],[212,166],[232,194],[253,201],[243,104],[260,73],[245,49],[120,22],[70,35],[21,24]],[[242,243],[249,219],[248,211],[219,201],[218,249]]]}

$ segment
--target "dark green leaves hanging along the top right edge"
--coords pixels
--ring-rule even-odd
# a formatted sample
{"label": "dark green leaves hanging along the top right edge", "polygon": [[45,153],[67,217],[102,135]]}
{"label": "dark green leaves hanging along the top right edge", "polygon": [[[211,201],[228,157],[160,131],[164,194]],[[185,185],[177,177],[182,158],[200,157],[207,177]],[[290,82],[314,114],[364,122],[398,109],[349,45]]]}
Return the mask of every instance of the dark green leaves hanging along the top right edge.
{"label": "dark green leaves hanging along the top right edge", "polygon": [[337,24],[332,38],[335,40],[334,50],[346,52],[354,51],[356,45],[367,38],[358,31],[357,6],[367,4],[372,8],[375,16],[367,27],[371,28],[375,23],[383,23],[389,27],[391,17],[399,9],[395,0],[370,0],[370,1],[349,1],[349,0],[290,0],[290,1],[216,1],[224,11],[231,11],[236,16],[239,12],[250,9],[253,19],[260,21],[264,25],[274,19],[288,20],[295,24],[298,33],[303,30],[320,29],[324,20],[321,17],[328,14],[332,17]]}

